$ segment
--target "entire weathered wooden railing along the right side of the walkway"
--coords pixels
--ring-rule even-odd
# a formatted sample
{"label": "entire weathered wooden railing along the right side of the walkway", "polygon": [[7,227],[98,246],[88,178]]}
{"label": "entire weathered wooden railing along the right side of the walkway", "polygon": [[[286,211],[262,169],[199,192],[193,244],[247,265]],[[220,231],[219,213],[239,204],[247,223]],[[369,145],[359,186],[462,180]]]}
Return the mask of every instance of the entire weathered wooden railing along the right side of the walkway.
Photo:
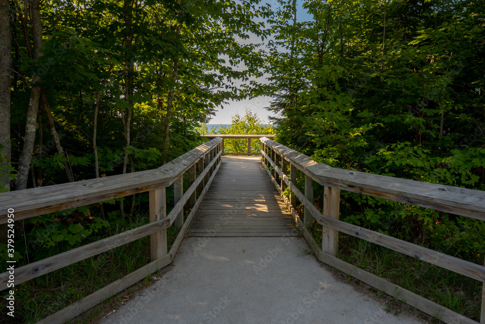
{"label": "entire weathered wooden railing along the right side of the walkway", "polygon": [[[435,316],[445,323],[477,323],[337,258],[339,232],[365,239],[482,282],[485,282],[485,267],[342,222],[339,220],[339,204],[340,190],[347,190],[485,220],[485,191],[332,168],[323,163],[314,162],[307,155],[293,151],[269,138],[263,137],[260,140],[262,142],[262,163],[267,167],[268,174],[280,193],[287,186],[290,187],[290,197],[283,195],[283,198],[313,252],[321,261],[344,273],[350,274],[378,290],[385,291],[389,295]],[[288,167],[290,168],[290,174],[288,174]],[[296,187],[297,169],[305,174],[305,193],[302,193]],[[313,205],[312,181],[324,186],[322,213]],[[305,207],[303,220],[300,219],[295,211],[295,197],[298,197]],[[313,239],[307,229],[307,226],[310,226],[313,222],[312,217],[323,225],[322,249],[320,249],[319,244]],[[485,288],[483,291],[481,323],[485,323]]]}

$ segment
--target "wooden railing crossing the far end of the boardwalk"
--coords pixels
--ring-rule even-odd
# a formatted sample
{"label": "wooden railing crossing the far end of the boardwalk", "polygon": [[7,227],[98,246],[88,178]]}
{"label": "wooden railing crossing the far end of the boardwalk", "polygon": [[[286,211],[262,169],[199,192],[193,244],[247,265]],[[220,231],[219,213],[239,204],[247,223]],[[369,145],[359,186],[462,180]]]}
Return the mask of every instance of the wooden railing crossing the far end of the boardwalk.
{"label": "wooden railing crossing the far end of the boardwalk", "polygon": [[276,135],[201,135],[205,138],[222,137],[222,155],[259,155],[261,141],[259,138],[275,138]]}

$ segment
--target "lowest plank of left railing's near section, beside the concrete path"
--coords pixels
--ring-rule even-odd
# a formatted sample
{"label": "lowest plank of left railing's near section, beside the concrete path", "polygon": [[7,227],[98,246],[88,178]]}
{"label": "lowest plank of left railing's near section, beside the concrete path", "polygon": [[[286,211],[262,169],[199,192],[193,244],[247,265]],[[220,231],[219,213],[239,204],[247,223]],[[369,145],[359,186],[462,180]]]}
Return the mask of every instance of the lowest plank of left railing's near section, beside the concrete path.
{"label": "lowest plank of left railing's near section, beside the concrete path", "polygon": [[37,324],[64,324],[69,322],[69,320],[72,320],[76,316],[79,316],[96,305],[101,304],[106,299],[117,294],[118,292],[121,292],[136,284],[138,281],[145,279],[148,274],[162,269],[166,265],[170,264],[170,262],[172,262],[170,255],[166,254],[159,259],[148,263],[146,266],[127,274],[123,278],[116,280],[108,286],[93,292],[92,294],[69,305],[68,307],[61,309],[49,317],[46,317],[42,321],[37,322]]}

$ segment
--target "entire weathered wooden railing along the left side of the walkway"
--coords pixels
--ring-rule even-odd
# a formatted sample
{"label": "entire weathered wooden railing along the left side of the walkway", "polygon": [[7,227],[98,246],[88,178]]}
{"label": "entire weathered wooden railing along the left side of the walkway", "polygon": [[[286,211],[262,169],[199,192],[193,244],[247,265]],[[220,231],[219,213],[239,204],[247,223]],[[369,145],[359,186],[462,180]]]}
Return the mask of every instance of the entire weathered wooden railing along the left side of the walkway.
{"label": "entire weathered wooden railing along the left side of the walkway", "polygon": [[[9,219],[19,221],[148,191],[150,209],[148,224],[19,268],[15,267],[17,285],[150,235],[152,262],[39,323],[65,323],[66,320],[80,315],[83,311],[142,280],[147,274],[154,273],[169,264],[175,256],[188,224],[219,170],[221,153],[222,138],[216,137],[155,170],[0,194],[0,224],[2,224],[9,222]],[[188,172],[191,185],[184,193],[182,177],[185,172]],[[165,188],[172,184],[174,184],[176,204],[167,215]],[[184,222],[183,206],[187,202],[192,210]],[[174,223],[180,230],[172,248],[167,252],[167,228]],[[15,263],[9,263],[11,264]],[[0,274],[0,290],[7,288],[9,275],[11,275],[9,272]]]}

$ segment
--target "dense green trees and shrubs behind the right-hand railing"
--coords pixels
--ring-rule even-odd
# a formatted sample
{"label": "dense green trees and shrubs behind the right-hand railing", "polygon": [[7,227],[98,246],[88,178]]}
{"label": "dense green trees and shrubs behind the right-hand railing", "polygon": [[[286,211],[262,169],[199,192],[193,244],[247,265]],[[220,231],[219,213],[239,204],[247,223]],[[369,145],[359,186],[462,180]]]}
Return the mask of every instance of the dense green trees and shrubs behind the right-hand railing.
{"label": "dense green trees and shrubs behind the right-hand railing", "polygon": [[[473,1],[281,0],[261,93],[277,140],[328,165],[485,189],[483,8]],[[288,21],[291,21],[289,24]],[[315,196],[319,193],[316,190]],[[482,221],[343,192],[342,218],[483,262]]]}

